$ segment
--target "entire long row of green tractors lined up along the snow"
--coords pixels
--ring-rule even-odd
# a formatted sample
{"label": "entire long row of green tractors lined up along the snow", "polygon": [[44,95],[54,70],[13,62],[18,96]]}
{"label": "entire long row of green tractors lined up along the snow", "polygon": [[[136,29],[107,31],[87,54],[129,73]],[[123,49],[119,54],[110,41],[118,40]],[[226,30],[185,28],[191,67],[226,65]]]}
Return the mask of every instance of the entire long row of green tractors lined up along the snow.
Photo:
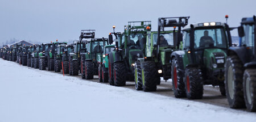
{"label": "entire long row of green tractors lined up along the snow", "polygon": [[[228,18],[228,16],[226,16]],[[128,22],[124,32],[96,39],[95,30],[81,30],[73,44],[58,41],[40,45],[3,47],[0,57],[19,64],[54,70],[82,79],[156,91],[160,79],[172,79],[176,98],[201,99],[203,86],[220,88],[230,107],[256,111],[255,16],[243,18],[233,47],[227,23],[188,25],[189,16],[159,18],[157,31],[151,21]],[[163,81],[162,80],[162,81]]]}

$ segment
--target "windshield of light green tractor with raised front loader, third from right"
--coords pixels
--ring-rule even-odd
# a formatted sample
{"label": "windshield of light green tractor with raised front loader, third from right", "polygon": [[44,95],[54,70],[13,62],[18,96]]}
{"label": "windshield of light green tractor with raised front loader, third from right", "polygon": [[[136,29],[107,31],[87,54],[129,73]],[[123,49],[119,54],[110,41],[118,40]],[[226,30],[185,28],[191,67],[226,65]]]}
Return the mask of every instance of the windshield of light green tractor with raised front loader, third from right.
{"label": "windshield of light green tractor with raised front loader, third from right", "polygon": [[[156,45],[158,41],[158,33],[153,34],[153,44]],[[160,47],[167,47],[174,45],[174,33],[160,33]]]}

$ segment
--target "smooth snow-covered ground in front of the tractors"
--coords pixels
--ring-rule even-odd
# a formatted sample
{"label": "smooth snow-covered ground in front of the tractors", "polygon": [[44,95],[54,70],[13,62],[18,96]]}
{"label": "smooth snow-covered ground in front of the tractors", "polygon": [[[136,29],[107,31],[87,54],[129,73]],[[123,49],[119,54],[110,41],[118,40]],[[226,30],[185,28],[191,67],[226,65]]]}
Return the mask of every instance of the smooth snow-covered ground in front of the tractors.
{"label": "smooth snow-covered ground in front of the tractors", "polygon": [[0,59],[0,122],[256,121],[256,113],[135,91]]}

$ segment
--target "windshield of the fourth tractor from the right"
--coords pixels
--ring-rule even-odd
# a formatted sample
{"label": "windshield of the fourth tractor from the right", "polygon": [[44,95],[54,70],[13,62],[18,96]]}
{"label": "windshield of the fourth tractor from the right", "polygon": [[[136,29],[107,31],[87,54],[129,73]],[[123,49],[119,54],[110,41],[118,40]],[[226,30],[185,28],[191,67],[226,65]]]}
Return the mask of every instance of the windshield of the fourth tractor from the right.
{"label": "windshield of the fourth tractor from the right", "polygon": [[127,46],[134,45],[137,49],[143,49],[146,39],[142,33],[131,33],[127,36]]}

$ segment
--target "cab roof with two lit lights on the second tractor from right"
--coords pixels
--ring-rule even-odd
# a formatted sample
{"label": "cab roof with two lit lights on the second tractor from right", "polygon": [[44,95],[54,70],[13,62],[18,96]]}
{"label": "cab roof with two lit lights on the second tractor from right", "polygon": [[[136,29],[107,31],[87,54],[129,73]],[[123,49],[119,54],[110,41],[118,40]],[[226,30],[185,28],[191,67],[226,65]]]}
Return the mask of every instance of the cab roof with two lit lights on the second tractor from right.
{"label": "cab roof with two lit lights on the second tractor from right", "polygon": [[194,24],[185,26],[183,28],[183,31],[190,30],[191,26],[193,26],[194,28],[210,28],[210,27],[221,27],[221,26],[224,27],[225,23],[221,23],[221,22],[194,23]]}

